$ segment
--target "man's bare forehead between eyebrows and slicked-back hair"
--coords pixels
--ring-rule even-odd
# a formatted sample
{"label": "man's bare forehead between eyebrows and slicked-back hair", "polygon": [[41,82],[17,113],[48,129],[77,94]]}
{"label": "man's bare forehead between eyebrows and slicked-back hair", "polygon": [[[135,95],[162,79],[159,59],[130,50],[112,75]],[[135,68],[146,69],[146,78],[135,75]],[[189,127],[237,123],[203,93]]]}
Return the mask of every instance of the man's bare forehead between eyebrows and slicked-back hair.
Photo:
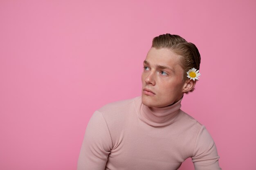
{"label": "man's bare forehead between eyebrows and slicked-back hair", "polygon": [[176,55],[171,49],[156,49],[153,47],[148,51],[145,61],[152,65],[177,68],[181,67],[181,57],[180,55]]}

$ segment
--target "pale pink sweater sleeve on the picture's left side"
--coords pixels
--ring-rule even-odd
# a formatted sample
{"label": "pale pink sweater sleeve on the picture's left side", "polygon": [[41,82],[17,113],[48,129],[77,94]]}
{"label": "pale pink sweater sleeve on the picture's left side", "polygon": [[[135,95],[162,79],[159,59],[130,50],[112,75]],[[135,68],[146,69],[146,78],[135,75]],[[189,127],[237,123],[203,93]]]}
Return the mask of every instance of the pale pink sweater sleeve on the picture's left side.
{"label": "pale pink sweater sleeve on the picture's left side", "polygon": [[105,170],[112,140],[103,115],[96,111],[85,130],[77,170]]}

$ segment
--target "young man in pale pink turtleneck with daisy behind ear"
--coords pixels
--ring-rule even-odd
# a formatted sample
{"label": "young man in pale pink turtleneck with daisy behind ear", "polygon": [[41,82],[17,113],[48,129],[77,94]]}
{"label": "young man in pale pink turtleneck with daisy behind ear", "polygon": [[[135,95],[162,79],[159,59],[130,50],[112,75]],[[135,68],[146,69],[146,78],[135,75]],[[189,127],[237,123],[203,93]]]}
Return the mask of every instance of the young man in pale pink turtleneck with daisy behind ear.
{"label": "young man in pale pink turtleneck with daisy behind ear", "polygon": [[221,170],[213,139],[180,110],[198,80],[200,53],[179,35],[159,35],[144,60],[140,97],[103,106],[91,117],[78,170]]}

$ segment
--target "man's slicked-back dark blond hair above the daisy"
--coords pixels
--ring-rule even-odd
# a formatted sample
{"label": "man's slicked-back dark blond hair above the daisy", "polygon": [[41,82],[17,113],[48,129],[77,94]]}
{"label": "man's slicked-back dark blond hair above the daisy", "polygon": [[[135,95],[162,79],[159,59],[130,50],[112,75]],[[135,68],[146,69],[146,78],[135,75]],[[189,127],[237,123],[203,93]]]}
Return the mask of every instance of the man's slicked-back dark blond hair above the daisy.
{"label": "man's slicked-back dark blond hair above the daisy", "polygon": [[[187,42],[179,35],[171,35],[169,33],[159,35],[152,41],[152,47],[156,49],[167,48],[171,49],[177,55],[181,55],[182,66],[184,69],[183,80],[188,79],[186,72],[191,68],[199,70],[201,57],[198,48],[195,44]],[[190,92],[193,92],[194,88]],[[188,93],[188,92],[187,92]]]}

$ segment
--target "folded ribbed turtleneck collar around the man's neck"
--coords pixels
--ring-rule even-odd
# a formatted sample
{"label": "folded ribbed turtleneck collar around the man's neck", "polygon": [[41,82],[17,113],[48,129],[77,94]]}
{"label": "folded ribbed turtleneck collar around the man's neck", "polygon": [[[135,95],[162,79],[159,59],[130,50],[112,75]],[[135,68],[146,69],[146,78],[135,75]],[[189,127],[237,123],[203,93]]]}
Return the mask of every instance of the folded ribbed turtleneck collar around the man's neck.
{"label": "folded ribbed turtleneck collar around the man's neck", "polygon": [[144,121],[146,124],[150,126],[154,126],[154,127],[167,126],[173,123],[173,121],[175,121],[175,119],[177,118],[177,115],[180,112],[182,98],[178,102],[170,106],[156,108],[156,107],[148,107],[142,104],[141,97],[140,97],[141,105],[137,110],[139,119],[141,119],[142,121]]}

